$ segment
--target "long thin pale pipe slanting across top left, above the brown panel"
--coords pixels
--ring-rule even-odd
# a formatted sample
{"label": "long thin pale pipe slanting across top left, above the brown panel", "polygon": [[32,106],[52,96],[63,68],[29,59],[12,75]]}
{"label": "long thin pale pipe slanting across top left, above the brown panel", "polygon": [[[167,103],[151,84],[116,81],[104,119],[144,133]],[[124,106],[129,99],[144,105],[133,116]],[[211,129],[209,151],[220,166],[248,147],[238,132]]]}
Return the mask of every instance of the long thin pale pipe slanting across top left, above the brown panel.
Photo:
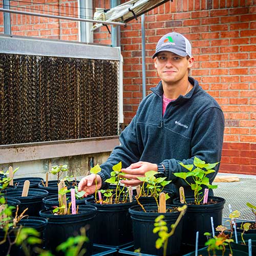
{"label": "long thin pale pipe slanting across top left, above the brown panel", "polygon": [[94,19],[86,19],[86,18],[75,18],[75,17],[67,17],[67,16],[59,16],[59,15],[41,14],[36,12],[7,10],[4,8],[0,8],[0,12],[10,12],[10,13],[25,14],[25,15],[31,15],[31,16],[47,17],[47,18],[69,19],[69,20],[76,20],[77,22],[92,22],[92,23],[101,23],[106,25],[110,24],[110,25],[119,25],[119,26],[125,25],[125,23],[121,23],[121,22],[107,22],[105,20],[94,20]]}

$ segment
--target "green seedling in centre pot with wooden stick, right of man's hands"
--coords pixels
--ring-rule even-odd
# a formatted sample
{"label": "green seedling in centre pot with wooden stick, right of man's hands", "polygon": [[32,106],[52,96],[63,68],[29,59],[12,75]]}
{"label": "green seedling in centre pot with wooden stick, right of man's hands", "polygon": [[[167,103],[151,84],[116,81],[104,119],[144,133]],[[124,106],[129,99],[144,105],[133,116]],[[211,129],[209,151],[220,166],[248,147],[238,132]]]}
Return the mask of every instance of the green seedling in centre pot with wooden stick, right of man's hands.
{"label": "green seedling in centre pot with wooden stick, right of man's hands", "polygon": [[[150,170],[145,173],[144,177],[137,177],[138,180],[143,182],[140,188],[140,194],[135,197],[140,206],[142,206],[139,202],[140,197],[153,197],[159,208],[159,195],[162,193],[164,187],[172,181],[166,181],[167,177],[156,178],[156,174],[158,173],[155,170]],[[169,196],[166,195],[165,199],[169,199]],[[142,208],[144,209],[144,207]]]}

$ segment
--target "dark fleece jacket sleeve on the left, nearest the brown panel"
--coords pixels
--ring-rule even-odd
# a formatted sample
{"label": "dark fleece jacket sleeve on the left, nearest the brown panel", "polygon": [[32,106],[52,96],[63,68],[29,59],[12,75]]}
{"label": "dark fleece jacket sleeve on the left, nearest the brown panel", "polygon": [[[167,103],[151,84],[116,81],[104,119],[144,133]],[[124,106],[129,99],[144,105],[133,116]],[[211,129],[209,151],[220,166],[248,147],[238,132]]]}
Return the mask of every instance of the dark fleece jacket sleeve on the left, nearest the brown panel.
{"label": "dark fleece jacket sleeve on the left, nearest the brown panel", "polygon": [[123,130],[119,137],[119,145],[114,148],[108,160],[101,164],[101,172],[98,173],[102,179],[102,188],[106,187],[105,180],[110,178],[113,165],[122,162],[122,168],[138,162],[140,153],[138,149],[138,135],[136,129],[137,115],[131,123]]}

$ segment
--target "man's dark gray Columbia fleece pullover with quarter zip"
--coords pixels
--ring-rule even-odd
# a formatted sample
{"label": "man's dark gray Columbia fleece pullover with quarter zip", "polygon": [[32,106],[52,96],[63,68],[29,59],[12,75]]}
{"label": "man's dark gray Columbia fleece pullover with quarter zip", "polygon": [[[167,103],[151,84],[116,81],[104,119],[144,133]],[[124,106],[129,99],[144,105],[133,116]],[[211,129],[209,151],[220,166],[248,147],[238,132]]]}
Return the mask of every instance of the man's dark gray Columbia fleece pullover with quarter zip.
{"label": "man's dark gray Columbia fleece pullover with quarter zip", "polygon": [[[120,145],[116,146],[108,160],[101,167],[102,181],[110,177],[112,166],[122,161],[125,168],[138,161],[164,164],[165,175],[178,196],[180,186],[185,196],[193,196],[194,191],[184,180],[174,173],[187,170],[179,163],[192,164],[194,157],[206,163],[221,160],[224,115],[217,101],[207,94],[197,80],[188,77],[193,89],[185,96],[180,95],[167,105],[162,116],[162,83],[152,88],[138,108],[136,116],[120,135]],[[207,176],[210,183],[219,169]],[[105,183],[103,182],[103,187]],[[209,196],[212,196],[209,191]]]}

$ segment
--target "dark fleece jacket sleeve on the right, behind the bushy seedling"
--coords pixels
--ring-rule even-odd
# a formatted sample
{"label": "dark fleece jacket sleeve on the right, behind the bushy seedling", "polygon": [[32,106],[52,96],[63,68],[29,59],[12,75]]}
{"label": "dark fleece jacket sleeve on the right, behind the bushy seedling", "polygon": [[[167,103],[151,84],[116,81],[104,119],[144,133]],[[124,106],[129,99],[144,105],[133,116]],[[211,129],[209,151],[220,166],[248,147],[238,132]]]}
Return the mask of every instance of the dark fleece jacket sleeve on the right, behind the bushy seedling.
{"label": "dark fleece jacket sleeve on the right, behind the bushy seedling", "polygon": [[[216,163],[221,160],[221,152],[224,134],[224,115],[220,108],[211,107],[206,109],[197,119],[190,144],[189,159],[183,159],[184,164],[193,164],[194,157],[198,157],[206,163]],[[187,186],[187,183],[174,176],[174,173],[187,172],[187,169],[180,165],[181,161],[166,159],[164,164],[168,180],[172,180],[177,186]],[[215,173],[210,174],[210,183],[217,175],[220,164],[216,165]]]}

